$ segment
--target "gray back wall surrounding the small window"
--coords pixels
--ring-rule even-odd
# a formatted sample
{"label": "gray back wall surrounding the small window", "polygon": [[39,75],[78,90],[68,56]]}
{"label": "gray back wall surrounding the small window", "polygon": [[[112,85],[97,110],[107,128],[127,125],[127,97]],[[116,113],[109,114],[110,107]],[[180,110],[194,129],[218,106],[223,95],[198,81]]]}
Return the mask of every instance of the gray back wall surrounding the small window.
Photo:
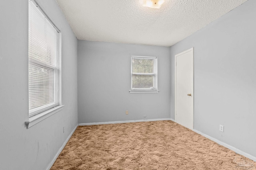
{"label": "gray back wall surrounding the small window", "polygon": [[[129,93],[131,55],[158,57],[159,93]],[[169,47],[78,41],[78,123],[165,118],[170,119]]]}

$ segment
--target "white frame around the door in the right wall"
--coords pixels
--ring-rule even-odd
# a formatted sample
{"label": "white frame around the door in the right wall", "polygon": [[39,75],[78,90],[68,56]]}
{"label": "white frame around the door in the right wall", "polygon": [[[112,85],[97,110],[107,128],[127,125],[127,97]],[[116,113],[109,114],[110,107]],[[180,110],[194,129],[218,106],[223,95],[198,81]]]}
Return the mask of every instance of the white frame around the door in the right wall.
{"label": "white frame around the door in the right wall", "polygon": [[193,114],[193,120],[192,120],[192,129],[194,129],[194,47],[192,47],[192,48],[190,48],[190,49],[188,49],[188,50],[186,50],[186,51],[183,51],[183,52],[181,52],[181,53],[178,53],[178,54],[176,54],[175,55],[175,57],[174,57],[174,65],[175,65],[175,72],[174,72],[174,77],[175,77],[175,80],[174,80],[174,115],[175,115],[175,122],[176,122],[176,66],[177,66],[177,61],[176,61],[176,58],[178,57],[178,56],[180,56],[180,55],[182,55],[182,54],[185,54],[185,53],[188,53],[188,52],[190,52],[190,51],[192,51],[192,60],[193,60],[193,62],[192,62],[192,71],[193,71],[193,83],[192,83],[192,100],[193,100],[193,110],[192,110],[192,114]]}

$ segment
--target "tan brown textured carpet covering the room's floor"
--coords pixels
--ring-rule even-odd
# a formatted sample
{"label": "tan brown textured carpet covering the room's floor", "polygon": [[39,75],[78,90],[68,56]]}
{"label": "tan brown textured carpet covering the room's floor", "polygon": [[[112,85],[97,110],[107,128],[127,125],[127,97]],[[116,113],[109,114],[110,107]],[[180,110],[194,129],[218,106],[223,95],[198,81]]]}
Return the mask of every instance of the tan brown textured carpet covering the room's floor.
{"label": "tan brown textured carpet covering the room's floor", "polygon": [[173,121],[152,121],[78,126],[51,170],[256,170],[256,162]]}

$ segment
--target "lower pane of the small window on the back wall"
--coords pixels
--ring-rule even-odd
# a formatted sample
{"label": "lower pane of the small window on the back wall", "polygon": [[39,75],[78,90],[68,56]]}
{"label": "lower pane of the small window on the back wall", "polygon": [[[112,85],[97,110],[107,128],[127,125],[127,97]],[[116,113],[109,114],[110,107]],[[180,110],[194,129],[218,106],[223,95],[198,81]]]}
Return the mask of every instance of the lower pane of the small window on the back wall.
{"label": "lower pane of the small window on the back wall", "polygon": [[154,75],[132,75],[132,88],[154,87]]}

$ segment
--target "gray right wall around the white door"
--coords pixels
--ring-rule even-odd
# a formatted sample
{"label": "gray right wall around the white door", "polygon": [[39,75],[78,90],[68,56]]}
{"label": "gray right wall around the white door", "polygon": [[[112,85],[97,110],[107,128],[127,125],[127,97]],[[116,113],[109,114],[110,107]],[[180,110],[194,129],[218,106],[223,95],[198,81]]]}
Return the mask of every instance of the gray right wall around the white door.
{"label": "gray right wall around the white door", "polygon": [[[171,118],[174,55],[194,47],[194,129],[256,156],[256,1],[170,48]],[[224,125],[224,133],[219,125]]]}

